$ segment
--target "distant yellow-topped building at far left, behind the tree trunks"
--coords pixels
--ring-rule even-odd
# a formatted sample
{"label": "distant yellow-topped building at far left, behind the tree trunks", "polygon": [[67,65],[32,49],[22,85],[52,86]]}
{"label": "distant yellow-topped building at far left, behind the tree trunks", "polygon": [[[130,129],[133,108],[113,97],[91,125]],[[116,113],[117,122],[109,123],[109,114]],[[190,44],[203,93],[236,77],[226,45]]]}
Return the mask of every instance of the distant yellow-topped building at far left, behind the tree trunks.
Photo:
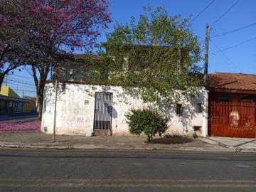
{"label": "distant yellow-topped building at far left, behind the tree trunks", "polygon": [[[20,98],[11,87],[2,86],[0,92],[0,114],[33,112],[31,100]],[[24,108],[25,107],[25,108]]]}

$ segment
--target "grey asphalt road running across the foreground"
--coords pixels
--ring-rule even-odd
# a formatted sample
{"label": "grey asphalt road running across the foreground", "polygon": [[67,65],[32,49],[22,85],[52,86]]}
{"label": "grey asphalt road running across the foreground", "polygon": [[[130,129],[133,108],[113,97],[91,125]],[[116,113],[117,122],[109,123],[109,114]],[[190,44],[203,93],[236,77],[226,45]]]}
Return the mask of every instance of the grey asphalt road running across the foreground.
{"label": "grey asphalt road running across the foreground", "polygon": [[256,191],[256,155],[0,149],[0,191]]}

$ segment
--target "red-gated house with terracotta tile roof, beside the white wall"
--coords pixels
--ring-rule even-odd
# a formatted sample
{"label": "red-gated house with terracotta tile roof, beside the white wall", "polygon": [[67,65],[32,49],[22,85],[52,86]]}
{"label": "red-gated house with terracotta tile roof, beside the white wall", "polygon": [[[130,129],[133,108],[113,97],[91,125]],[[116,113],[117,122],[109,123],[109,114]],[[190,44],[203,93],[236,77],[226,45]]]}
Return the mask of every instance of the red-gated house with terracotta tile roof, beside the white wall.
{"label": "red-gated house with terracotta tile roof, beside the white wall", "polygon": [[208,134],[256,137],[256,75],[208,75]]}

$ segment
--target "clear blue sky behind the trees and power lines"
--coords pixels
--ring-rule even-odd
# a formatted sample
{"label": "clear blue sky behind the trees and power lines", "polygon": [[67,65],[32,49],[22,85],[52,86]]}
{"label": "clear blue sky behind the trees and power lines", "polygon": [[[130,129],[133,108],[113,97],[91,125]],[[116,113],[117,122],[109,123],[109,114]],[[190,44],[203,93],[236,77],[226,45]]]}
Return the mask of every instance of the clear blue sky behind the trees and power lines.
{"label": "clear blue sky behind the trees and power lines", "polygon": [[[106,41],[105,32],[111,32],[114,23],[129,23],[131,16],[139,18],[139,14],[143,13],[143,6],[148,4],[151,4],[153,9],[157,6],[164,6],[164,9],[166,9],[170,16],[181,14],[183,18],[186,18],[192,14],[193,19],[203,11],[211,1],[213,0],[109,0],[109,11],[112,13],[112,23],[109,24],[107,30],[101,31],[101,36],[97,41]],[[233,7],[230,9],[231,6]],[[204,47],[203,41],[206,34],[206,23],[210,25],[210,36],[212,37],[210,38],[209,44],[209,73],[256,74],[256,25],[234,33],[229,33],[226,36],[213,37],[218,33],[233,31],[237,28],[256,23],[255,9],[256,0],[215,0],[208,6],[208,9],[203,11],[203,13],[193,21],[192,30],[193,33],[200,38],[202,49]],[[228,11],[227,14],[225,14],[226,11]],[[223,14],[225,14],[225,16],[223,16]],[[220,18],[220,16],[223,17]],[[220,18],[220,20],[218,20],[218,18]],[[218,21],[215,22],[216,20]],[[223,50],[226,48],[230,49]],[[215,53],[219,50],[223,51]],[[203,64],[203,61],[201,64]],[[9,75],[9,80],[12,80],[9,81],[9,85],[13,87],[15,91],[18,90],[20,96],[22,96],[22,90],[24,90],[24,95],[36,95],[36,92],[33,92],[35,88],[29,71],[21,70],[20,72],[15,70],[14,75]]]}

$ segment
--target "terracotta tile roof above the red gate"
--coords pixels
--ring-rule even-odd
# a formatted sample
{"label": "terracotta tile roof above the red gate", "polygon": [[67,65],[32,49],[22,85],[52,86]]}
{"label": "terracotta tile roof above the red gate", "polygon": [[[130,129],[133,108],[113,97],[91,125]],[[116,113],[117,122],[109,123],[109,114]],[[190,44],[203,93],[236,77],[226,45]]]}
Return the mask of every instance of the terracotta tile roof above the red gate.
{"label": "terracotta tile roof above the red gate", "polygon": [[219,90],[256,91],[256,75],[244,73],[209,74],[208,88]]}

